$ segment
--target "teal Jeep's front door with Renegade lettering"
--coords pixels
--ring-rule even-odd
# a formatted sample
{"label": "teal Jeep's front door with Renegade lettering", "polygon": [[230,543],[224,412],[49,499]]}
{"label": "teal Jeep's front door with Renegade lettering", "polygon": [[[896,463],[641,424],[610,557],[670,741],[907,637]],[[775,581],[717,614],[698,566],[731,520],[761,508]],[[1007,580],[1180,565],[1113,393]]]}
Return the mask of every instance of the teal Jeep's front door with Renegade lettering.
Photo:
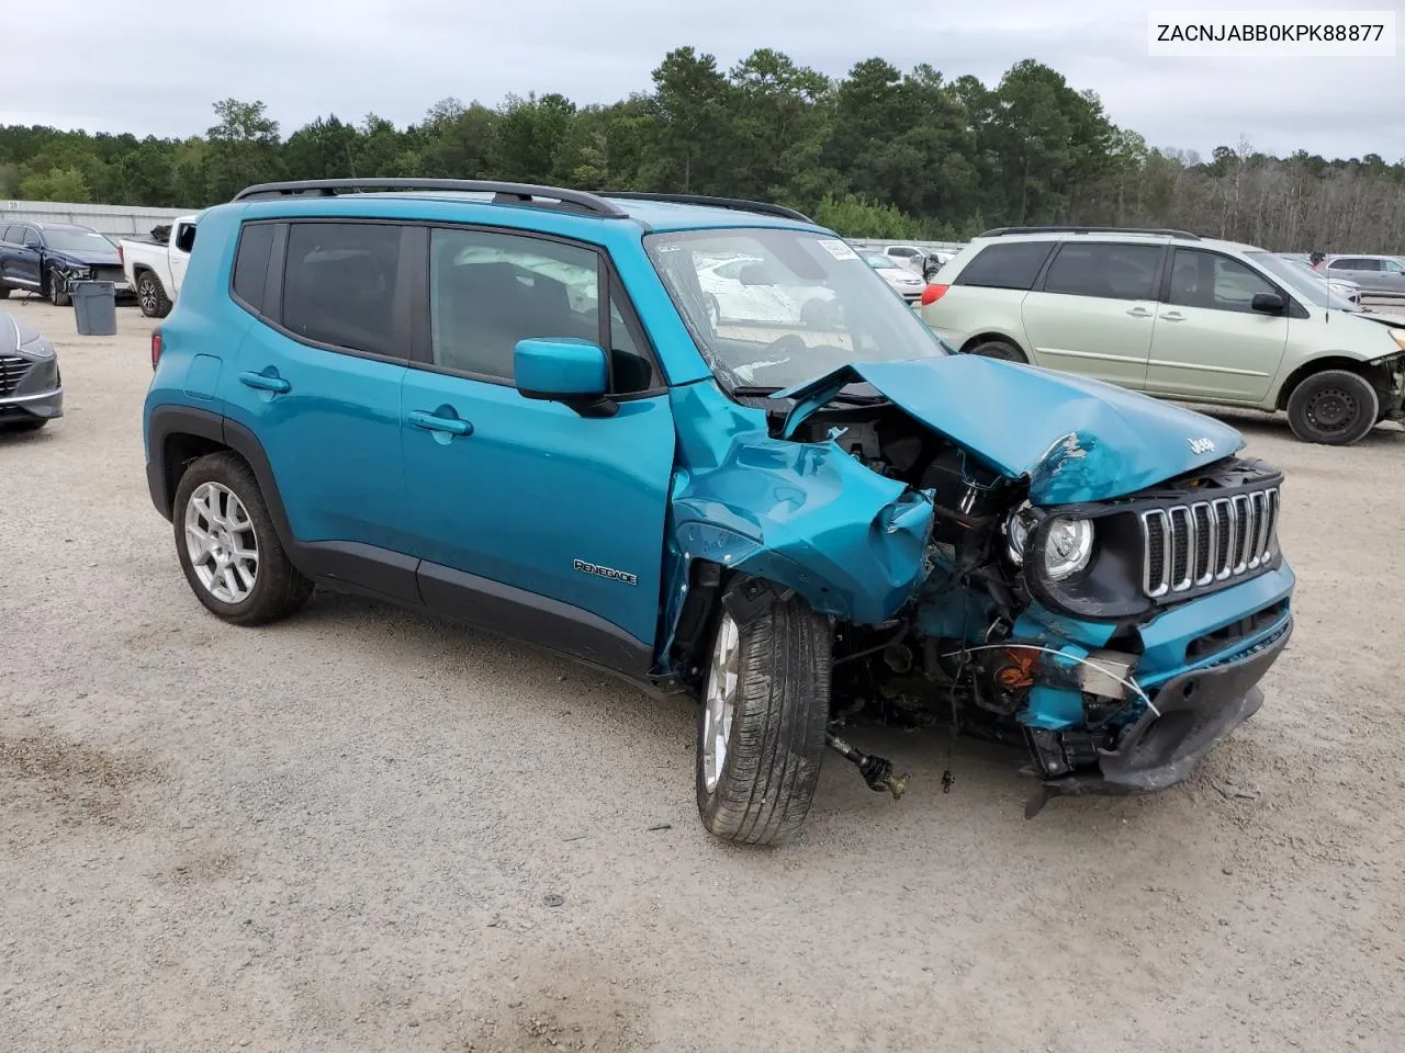
{"label": "teal Jeep's front door with Renegade lettering", "polygon": [[[400,403],[424,601],[641,671],[659,618],[674,432],[606,257],[520,233],[436,227],[429,258],[427,361],[409,371]],[[523,397],[513,348],[527,337],[608,343],[618,413],[583,417]]]}

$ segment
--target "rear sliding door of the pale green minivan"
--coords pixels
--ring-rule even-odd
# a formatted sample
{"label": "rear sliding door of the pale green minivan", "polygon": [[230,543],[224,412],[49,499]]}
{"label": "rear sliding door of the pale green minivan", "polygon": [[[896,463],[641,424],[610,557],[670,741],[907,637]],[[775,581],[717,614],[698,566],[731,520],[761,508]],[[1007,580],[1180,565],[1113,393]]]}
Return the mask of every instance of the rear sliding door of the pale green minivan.
{"label": "rear sliding door of the pale green minivan", "polygon": [[1165,256],[1163,243],[1059,244],[1020,307],[1038,365],[1139,390]]}

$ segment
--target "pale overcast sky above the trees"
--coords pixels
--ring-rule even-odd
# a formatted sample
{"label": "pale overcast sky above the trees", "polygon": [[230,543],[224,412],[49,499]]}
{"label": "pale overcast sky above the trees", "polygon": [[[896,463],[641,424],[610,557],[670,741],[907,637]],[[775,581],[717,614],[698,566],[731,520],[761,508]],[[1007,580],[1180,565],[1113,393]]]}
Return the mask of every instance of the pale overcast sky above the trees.
{"label": "pale overcast sky above the trees", "polygon": [[[1169,4],[1168,4],[1169,6]],[[1210,7],[1201,3],[1200,7]],[[670,10],[673,7],[673,10]],[[1182,4],[1194,8],[1196,4]],[[1225,7],[1229,7],[1227,4]],[[1234,10],[1274,10],[1236,0]],[[1398,10],[1402,0],[1298,0],[1277,10]],[[1325,156],[1405,153],[1405,48],[1392,59],[1166,59],[1146,55],[1146,8],[1125,0],[49,0],[7,18],[0,124],[187,136],[209,104],[261,98],[287,136],[318,115],[419,121],[445,95],[499,102],[561,91],[610,102],[651,87],[676,46],[726,69],[776,48],[832,77],[864,58],[995,84],[1034,58],[1093,88],[1152,146]],[[1405,21],[1405,20],[1402,20]]]}

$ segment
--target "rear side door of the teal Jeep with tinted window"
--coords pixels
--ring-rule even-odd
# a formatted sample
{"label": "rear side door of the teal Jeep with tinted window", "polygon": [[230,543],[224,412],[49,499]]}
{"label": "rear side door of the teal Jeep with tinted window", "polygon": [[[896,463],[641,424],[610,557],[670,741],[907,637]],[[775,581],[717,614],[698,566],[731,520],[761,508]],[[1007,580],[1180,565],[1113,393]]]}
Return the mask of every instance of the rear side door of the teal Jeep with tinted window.
{"label": "rear side door of the teal Jeep with tinted window", "polygon": [[[291,223],[281,282],[273,251],[274,302],[253,303],[273,232],[250,223],[240,237],[235,292],[259,314],[236,361],[209,366],[232,372],[225,413],[259,437],[309,573],[417,601],[400,529],[400,383],[410,343],[400,274],[424,232]],[[254,275],[250,289],[240,288],[246,274]]]}

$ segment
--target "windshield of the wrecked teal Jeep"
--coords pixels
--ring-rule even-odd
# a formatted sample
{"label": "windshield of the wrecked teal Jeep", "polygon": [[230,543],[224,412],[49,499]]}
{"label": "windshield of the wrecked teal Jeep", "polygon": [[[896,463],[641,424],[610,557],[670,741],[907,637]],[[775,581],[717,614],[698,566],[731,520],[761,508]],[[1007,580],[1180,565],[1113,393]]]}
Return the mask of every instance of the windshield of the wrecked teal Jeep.
{"label": "windshield of the wrecked teal Jeep", "polygon": [[649,234],[649,258],[731,389],[791,388],[850,362],[946,354],[844,241],[804,230]]}

